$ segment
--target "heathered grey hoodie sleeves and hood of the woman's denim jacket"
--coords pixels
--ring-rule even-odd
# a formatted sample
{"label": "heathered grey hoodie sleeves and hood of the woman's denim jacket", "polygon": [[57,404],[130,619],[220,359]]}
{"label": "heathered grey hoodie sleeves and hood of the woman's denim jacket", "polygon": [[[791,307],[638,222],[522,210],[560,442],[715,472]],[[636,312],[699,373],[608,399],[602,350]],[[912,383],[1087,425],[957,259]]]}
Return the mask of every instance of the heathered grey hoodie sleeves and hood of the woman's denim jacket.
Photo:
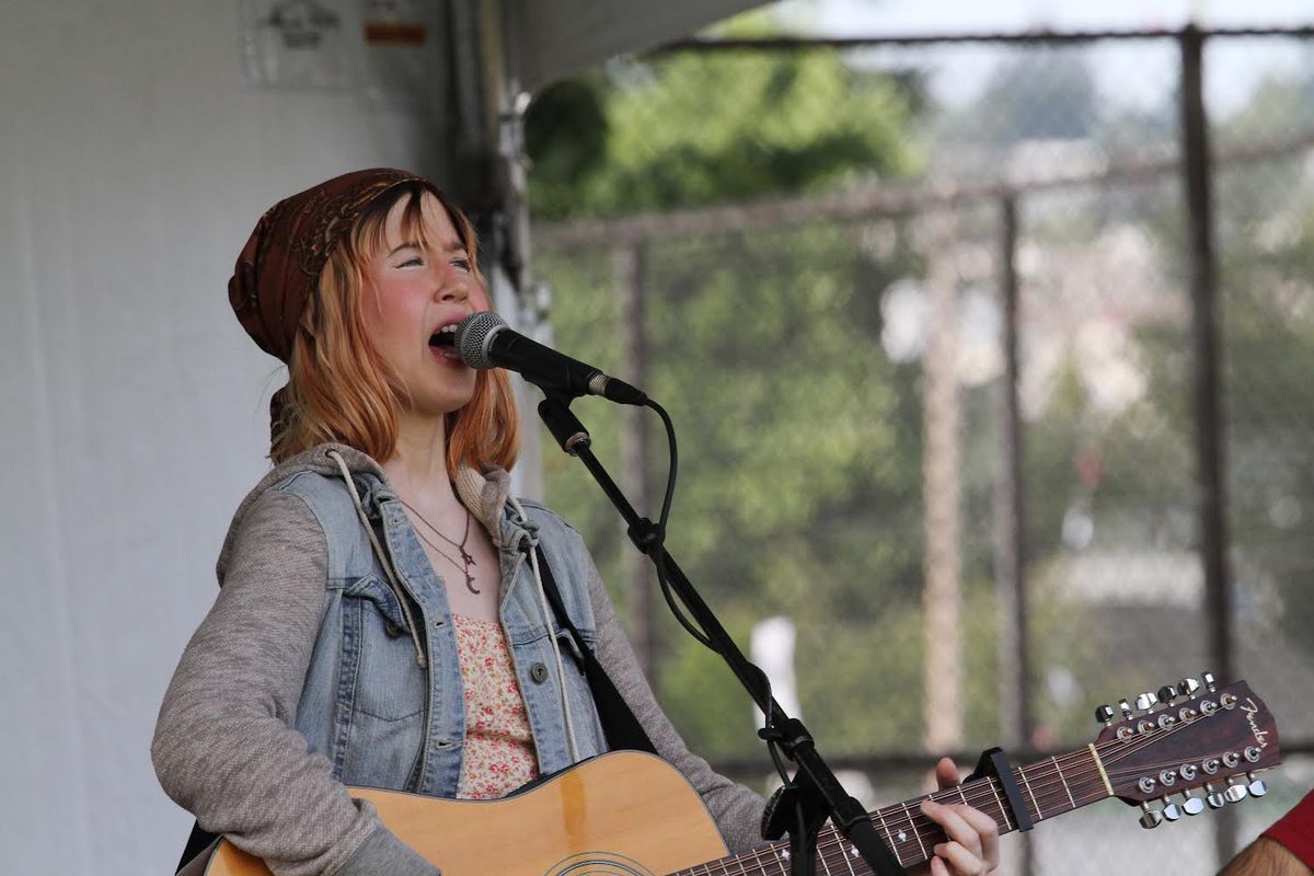
{"label": "heathered grey hoodie sleeves and hood of the woman's denim jacket", "polygon": [[[304,502],[271,487],[302,471],[340,478],[330,449],[353,473],[386,481],[365,454],[325,445],[279,465],[243,499],[219,554],[219,594],[164,696],[151,756],[170,797],[277,876],[428,876],[438,871],[371,804],[351,799],[327,758],[310,753],[294,729],[323,613],[327,541]],[[506,474],[459,479],[457,491],[497,538]],[[731,851],[759,844],[762,799],[689,751],[639,671],[591,562],[587,579],[598,659],[658,754],[702,795]]]}

